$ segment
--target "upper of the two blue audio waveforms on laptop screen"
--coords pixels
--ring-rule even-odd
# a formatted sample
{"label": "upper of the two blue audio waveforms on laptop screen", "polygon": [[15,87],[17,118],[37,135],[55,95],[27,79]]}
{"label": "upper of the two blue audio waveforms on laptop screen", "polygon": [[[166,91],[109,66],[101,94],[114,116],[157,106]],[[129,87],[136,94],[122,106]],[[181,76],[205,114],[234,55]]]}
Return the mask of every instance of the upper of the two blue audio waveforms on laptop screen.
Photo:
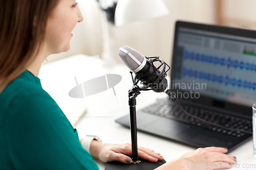
{"label": "upper of the two blue audio waveforms on laptop screen", "polygon": [[188,51],[184,52],[183,55],[184,60],[195,60],[215,65],[222,65],[226,66],[227,68],[234,67],[234,68],[240,68],[240,69],[246,69],[251,71],[256,71],[256,64],[254,63],[245,63],[244,61],[238,61],[238,60],[232,60],[231,58],[224,58],[224,57],[218,57],[218,56],[210,56],[210,55],[204,55],[199,53],[189,53]]}

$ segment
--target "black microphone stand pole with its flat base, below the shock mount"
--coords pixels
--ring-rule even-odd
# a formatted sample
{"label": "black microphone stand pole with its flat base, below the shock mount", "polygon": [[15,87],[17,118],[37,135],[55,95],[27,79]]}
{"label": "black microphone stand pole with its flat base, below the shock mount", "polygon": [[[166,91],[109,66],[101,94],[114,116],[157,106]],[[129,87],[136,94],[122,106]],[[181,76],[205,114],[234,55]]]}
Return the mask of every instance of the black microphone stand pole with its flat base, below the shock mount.
{"label": "black microphone stand pole with its flat base, below the shock mount", "polygon": [[129,90],[130,123],[132,136],[132,163],[124,164],[118,161],[107,162],[105,170],[153,170],[166,163],[163,159],[157,162],[150,162],[138,157],[137,142],[137,120],[136,120],[136,97],[140,94],[139,86],[135,85]]}

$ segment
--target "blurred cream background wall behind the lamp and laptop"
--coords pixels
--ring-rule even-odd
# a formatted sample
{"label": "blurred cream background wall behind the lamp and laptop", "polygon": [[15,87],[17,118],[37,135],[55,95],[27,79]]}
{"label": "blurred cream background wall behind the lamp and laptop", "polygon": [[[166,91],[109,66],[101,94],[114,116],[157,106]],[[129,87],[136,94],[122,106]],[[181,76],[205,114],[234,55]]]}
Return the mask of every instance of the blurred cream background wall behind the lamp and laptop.
{"label": "blurred cream background wall behind the lamp and laptop", "polygon": [[[104,26],[98,1],[77,0],[77,2],[84,19],[72,32],[74,36],[71,39],[71,49],[67,53],[49,56],[50,62],[79,53],[102,57]],[[113,2],[118,1],[102,0],[101,5],[108,7]],[[107,22],[112,44],[111,51],[117,62],[122,63],[118,49],[127,45],[144,56],[160,56],[170,64],[177,20],[256,29],[255,0],[163,0],[163,2],[169,11],[165,16],[127,23],[120,27]]]}

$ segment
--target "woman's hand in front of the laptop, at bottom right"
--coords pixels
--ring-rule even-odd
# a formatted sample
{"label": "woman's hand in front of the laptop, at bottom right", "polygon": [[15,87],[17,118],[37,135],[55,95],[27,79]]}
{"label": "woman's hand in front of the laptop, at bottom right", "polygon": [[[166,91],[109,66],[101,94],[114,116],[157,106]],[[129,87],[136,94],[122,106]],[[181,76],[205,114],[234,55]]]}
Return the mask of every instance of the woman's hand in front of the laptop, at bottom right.
{"label": "woman's hand in front of the laptop, at bottom right", "polygon": [[[199,148],[181,157],[165,163],[156,170],[195,169],[212,170],[230,168],[230,164],[237,163],[237,158],[226,155],[227,149],[217,147]],[[201,166],[201,167],[200,167]],[[197,167],[197,168],[196,168]]]}

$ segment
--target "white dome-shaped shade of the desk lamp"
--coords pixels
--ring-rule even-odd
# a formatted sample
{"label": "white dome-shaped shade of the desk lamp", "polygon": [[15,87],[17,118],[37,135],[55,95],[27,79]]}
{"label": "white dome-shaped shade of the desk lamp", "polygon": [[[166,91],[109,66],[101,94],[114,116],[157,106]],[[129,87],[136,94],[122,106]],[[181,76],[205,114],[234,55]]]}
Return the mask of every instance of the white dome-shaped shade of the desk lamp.
{"label": "white dome-shaped shade of the desk lamp", "polygon": [[115,11],[115,26],[156,18],[168,13],[162,0],[119,0]]}

